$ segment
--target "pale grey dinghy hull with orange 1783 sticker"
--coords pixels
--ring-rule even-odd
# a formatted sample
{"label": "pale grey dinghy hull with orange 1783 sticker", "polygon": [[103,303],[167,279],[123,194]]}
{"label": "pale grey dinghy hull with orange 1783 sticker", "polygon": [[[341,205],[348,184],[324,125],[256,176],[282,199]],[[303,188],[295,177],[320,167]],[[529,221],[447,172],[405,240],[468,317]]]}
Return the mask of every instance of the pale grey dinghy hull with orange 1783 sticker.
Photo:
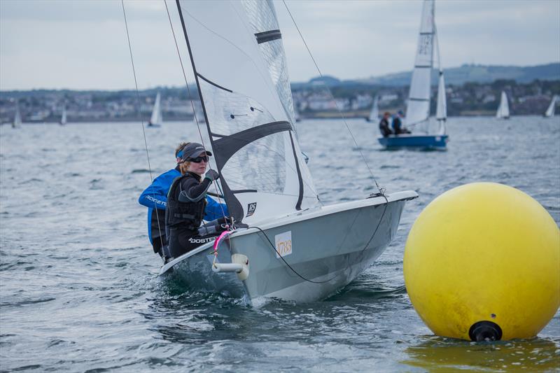
{"label": "pale grey dinghy hull with orange 1783 sticker", "polygon": [[[321,300],[372,265],[395,236],[405,202],[416,197],[416,192],[408,191],[388,196],[388,203],[384,197],[373,197],[324,206],[270,220],[260,230],[235,232],[218,248],[218,262],[231,262],[232,254],[246,255],[249,275],[244,281],[235,273],[212,271],[212,243],[172,260],[160,274],[178,277],[192,290],[244,297],[249,302],[268,297]],[[291,268],[273,246],[288,237],[291,253],[283,259]]]}

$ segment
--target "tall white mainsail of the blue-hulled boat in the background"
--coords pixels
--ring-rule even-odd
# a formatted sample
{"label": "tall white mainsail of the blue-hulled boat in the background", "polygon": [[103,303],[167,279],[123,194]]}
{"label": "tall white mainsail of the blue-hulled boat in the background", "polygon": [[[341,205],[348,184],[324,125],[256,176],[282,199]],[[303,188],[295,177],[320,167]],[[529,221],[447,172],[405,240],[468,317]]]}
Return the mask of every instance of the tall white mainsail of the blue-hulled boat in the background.
{"label": "tall white mainsail of the blue-hulled boat in the background", "polygon": [[430,84],[433,68],[434,2],[425,0],[422,8],[418,48],[410,82],[407,125],[423,122],[430,116]]}

